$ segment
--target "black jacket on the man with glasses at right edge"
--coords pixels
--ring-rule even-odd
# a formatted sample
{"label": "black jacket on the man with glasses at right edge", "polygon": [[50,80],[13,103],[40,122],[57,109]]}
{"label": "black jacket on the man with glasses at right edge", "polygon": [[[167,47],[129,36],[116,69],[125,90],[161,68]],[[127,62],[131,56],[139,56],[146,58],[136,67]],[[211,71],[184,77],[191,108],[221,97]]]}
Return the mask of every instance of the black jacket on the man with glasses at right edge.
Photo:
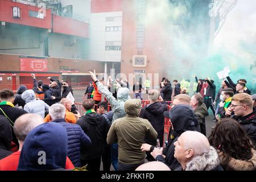
{"label": "black jacket on the man with glasses at right edge", "polygon": [[236,117],[232,116],[233,119],[236,119],[243,129],[245,129],[247,135],[256,145],[256,110],[253,113],[246,115],[245,117]]}

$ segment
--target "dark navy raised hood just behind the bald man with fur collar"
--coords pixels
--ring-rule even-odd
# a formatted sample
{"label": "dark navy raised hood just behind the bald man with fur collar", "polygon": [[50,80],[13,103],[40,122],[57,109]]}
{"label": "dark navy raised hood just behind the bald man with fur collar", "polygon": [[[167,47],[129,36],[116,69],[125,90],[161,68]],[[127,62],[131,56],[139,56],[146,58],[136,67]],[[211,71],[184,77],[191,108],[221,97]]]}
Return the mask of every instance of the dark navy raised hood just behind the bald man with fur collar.
{"label": "dark navy raised hood just behind the bald man with fur collar", "polygon": [[164,111],[163,115],[171,119],[177,134],[182,134],[184,131],[196,131],[196,127],[199,125],[196,114],[187,105],[176,105],[171,111]]}

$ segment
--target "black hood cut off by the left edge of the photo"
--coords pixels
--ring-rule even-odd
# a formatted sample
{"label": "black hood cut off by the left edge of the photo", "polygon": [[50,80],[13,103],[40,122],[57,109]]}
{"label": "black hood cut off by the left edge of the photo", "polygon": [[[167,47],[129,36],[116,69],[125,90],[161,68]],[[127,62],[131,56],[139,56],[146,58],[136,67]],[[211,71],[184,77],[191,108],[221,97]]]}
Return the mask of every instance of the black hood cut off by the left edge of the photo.
{"label": "black hood cut off by the left edge of the photo", "polygon": [[10,121],[3,115],[0,115],[0,148],[9,150],[11,140],[13,140],[13,131]]}

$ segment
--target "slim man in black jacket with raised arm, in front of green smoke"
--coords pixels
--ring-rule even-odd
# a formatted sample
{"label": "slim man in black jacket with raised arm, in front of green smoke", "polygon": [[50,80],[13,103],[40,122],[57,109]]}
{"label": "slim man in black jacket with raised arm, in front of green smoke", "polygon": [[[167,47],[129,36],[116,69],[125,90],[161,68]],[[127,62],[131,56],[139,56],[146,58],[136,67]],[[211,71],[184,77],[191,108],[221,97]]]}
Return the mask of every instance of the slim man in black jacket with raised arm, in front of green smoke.
{"label": "slim man in black jacket with raised arm, in front of green smoke", "polygon": [[209,86],[204,97],[204,104],[207,106],[207,110],[210,107],[210,109],[212,109],[213,115],[215,115],[213,101],[215,100],[216,85],[214,85],[213,80],[208,80],[208,78],[205,78],[205,80],[208,82]]}

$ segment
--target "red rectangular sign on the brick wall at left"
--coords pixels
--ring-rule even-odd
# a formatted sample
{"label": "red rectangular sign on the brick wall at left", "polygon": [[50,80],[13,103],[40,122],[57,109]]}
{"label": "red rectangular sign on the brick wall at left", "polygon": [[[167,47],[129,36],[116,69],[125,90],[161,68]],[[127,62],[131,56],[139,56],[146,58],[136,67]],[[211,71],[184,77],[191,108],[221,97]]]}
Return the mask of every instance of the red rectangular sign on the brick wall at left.
{"label": "red rectangular sign on the brick wall at left", "polygon": [[48,60],[46,57],[20,56],[20,71],[47,72]]}

